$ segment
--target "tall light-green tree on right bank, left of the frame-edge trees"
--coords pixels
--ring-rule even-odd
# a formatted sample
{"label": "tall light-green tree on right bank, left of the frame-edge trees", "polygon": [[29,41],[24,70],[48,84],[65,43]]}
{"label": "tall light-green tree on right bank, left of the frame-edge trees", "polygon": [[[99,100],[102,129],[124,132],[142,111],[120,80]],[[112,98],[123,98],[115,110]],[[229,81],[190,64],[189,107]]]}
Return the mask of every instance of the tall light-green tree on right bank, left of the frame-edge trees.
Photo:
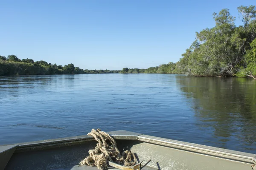
{"label": "tall light-green tree on right bank, left of the frame-edge trees", "polygon": [[[200,74],[212,76],[233,76],[236,65],[233,61],[235,54],[231,44],[231,38],[235,29],[235,18],[230,15],[228,9],[222,9],[218,14],[214,13],[215,27],[204,29],[196,34],[200,43],[199,48],[194,47],[197,56],[193,62],[199,67]],[[199,58],[198,58],[199,57]],[[237,62],[240,60],[238,59]],[[193,66],[190,67],[193,74]],[[201,75],[199,75],[201,76]]]}

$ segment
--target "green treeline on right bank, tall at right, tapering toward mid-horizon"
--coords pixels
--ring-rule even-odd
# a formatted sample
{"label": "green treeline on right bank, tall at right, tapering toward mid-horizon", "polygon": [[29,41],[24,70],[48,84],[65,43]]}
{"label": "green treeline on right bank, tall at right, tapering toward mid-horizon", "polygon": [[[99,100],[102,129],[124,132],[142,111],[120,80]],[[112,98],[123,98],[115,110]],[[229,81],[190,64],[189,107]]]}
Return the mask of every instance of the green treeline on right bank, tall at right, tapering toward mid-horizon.
{"label": "green treeline on right bank, tall at right, tapering toward mid-horizon", "polygon": [[213,14],[215,27],[196,32],[196,40],[177,63],[148,69],[123,68],[121,73],[188,74],[196,77],[256,79],[256,8],[239,6],[243,26],[228,9]]}

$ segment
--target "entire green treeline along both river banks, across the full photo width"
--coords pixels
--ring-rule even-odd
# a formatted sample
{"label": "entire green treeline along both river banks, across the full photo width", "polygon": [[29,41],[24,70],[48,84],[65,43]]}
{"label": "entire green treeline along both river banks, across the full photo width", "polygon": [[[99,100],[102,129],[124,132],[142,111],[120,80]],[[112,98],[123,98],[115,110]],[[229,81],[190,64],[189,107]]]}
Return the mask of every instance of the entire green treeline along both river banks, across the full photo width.
{"label": "entire green treeline along both river banks, across the full photo width", "polygon": [[256,79],[256,8],[239,6],[244,25],[236,26],[228,9],[213,14],[215,27],[196,32],[196,40],[177,63],[169,62],[147,69],[122,71],[83,70],[73,64],[52,65],[45,61],[0,56],[0,75],[159,73],[188,74],[195,77],[253,77]]}

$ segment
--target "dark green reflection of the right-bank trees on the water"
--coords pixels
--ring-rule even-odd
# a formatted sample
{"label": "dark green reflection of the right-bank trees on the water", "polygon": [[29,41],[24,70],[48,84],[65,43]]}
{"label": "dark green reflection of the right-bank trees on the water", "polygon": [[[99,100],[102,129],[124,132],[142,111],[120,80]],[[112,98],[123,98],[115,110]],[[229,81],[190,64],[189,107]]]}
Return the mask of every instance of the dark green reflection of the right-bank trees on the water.
{"label": "dark green reflection of the right-bank trees on the water", "polygon": [[[196,78],[177,76],[184,95],[192,97],[191,107],[198,126],[212,131],[208,142],[250,150],[256,146],[256,81],[243,78]],[[209,131],[207,130],[207,131]]]}

